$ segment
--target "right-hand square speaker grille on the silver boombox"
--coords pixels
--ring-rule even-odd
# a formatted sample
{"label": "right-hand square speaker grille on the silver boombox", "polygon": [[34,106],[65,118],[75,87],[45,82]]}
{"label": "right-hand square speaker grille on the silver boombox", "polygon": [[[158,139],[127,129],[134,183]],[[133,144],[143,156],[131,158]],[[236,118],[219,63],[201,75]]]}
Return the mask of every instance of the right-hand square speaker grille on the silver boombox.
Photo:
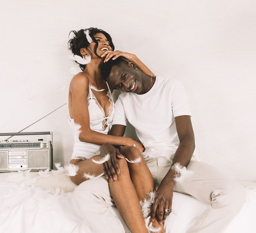
{"label": "right-hand square speaker grille on the silver boombox", "polygon": [[49,150],[28,150],[28,168],[49,167]]}

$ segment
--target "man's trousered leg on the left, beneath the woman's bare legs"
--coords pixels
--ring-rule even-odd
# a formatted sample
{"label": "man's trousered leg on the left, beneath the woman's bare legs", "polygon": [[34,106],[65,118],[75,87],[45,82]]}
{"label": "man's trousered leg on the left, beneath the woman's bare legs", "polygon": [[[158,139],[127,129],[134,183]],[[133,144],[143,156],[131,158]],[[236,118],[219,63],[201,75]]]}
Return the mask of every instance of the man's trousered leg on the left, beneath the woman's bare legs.
{"label": "man's trousered leg on the left, beneath the woman's bare legs", "polygon": [[78,217],[88,223],[92,232],[124,233],[121,221],[112,211],[115,203],[105,176],[82,182],[70,198]]}

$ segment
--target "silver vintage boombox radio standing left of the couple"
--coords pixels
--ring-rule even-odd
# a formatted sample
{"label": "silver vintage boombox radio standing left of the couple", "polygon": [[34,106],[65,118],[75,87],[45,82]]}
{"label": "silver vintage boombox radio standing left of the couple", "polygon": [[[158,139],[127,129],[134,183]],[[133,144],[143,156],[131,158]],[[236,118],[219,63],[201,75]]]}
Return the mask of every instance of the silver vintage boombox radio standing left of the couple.
{"label": "silver vintage boombox radio standing left of the couple", "polygon": [[[0,133],[0,136],[43,135],[52,132]],[[0,142],[0,172],[53,169],[52,140],[12,140]]]}

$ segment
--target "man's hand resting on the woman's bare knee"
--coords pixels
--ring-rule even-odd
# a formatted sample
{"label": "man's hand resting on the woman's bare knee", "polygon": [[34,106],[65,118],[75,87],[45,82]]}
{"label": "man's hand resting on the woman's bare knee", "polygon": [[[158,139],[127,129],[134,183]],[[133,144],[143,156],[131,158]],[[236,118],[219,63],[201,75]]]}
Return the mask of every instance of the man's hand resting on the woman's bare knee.
{"label": "man's hand resting on the woman's bare knee", "polygon": [[117,148],[115,148],[109,143],[104,143],[100,147],[101,158],[106,156],[106,154],[110,154],[110,159],[103,163],[104,175],[107,179],[110,178],[111,180],[116,180],[117,174],[120,173],[120,168],[118,167],[117,159],[123,159],[124,156],[120,154]]}

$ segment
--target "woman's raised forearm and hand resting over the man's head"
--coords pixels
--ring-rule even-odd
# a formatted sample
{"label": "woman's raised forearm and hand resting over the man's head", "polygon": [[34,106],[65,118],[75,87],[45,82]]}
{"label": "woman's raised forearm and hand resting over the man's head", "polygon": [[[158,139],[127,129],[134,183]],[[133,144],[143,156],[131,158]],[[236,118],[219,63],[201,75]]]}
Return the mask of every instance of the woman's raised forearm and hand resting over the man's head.
{"label": "woman's raised forearm and hand resting over the man's head", "polygon": [[144,74],[149,75],[149,76],[155,76],[153,74],[153,72],[148,69],[148,67],[135,55],[132,53],[126,53],[126,52],[122,52],[119,50],[115,50],[115,51],[106,51],[105,53],[103,53],[101,55],[101,57],[105,56],[105,60],[104,62],[107,62],[110,58],[112,58],[113,56],[113,60],[115,60],[118,57],[123,57],[125,60],[130,60],[132,62],[134,62],[137,66],[137,68],[139,68],[140,71],[142,71]]}

